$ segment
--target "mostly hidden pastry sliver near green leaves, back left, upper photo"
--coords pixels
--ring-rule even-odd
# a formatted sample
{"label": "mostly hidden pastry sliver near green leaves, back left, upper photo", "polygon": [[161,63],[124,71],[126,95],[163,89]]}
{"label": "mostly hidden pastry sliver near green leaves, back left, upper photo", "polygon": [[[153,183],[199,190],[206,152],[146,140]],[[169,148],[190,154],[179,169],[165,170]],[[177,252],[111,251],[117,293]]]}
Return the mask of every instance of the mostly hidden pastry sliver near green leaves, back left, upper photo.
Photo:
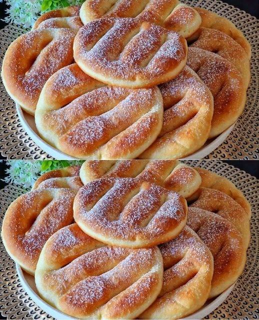
{"label": "mostly hidden pastry sliver near green leaves, back left, upper photo", "polygon": [[64,8],[59,8],[59,9],[45,12],[42,15],[40,15],[39,18],[37,18],[37,20],[35,21],[32,27],[32,30],[36,29],[41,22],[46,21],[48,19],[79,16],[79,12],[80,12],[80,5],[66,6]]}

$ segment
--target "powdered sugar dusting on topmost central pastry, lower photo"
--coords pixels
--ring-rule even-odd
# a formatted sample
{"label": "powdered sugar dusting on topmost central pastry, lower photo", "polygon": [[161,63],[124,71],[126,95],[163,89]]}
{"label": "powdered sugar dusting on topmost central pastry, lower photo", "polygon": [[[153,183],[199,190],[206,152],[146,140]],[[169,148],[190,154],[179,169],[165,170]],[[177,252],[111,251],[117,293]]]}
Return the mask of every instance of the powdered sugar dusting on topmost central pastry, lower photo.
{"label": "powdered sugar dusting on topmost central pastry, lower photo", "polygon": [[[92,192],[95,181],[89,184]],[[177,193],[154,184],[141,185],[138,179],[113,179],[113,183],[105,186],[104,194],[103,191],[96,194],[95,200],[84,193],[88,192],[88,186],[84,186],[77,195],[80,207],[75,219],[82,220],[95,232],[121,240],[155,239],[167,232],[164,230],[167,223],[173,229],[185,219],[184,205]],[[89,211],[85,210],[87,197],[95,203]]]}

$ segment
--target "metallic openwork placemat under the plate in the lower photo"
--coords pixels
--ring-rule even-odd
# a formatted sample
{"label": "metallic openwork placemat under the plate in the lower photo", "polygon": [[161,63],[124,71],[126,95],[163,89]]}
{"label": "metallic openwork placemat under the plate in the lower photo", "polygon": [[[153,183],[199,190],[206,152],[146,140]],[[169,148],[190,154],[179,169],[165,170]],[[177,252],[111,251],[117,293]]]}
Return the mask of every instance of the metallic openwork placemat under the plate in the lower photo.
{"label": "metallic openwork placemat under the plate in the lower photo", "polygon": [[[256,319],[258,287],[258,225],[259,225],[259,182],[248,173],[222,161],[184,161],[192,166],[200,166],[230,179],[246,196],[251,204],[251,241],[247,251],[247,261],[242,275],[227,299],[206,318]],[[0,190],[0,227],[8,205],[21,193],[19,187],[8,185]],[[16,274],[15,263],[9,257],[0,241],[0,312],[8,319],[53,319],[41,310],[24,291]]]}

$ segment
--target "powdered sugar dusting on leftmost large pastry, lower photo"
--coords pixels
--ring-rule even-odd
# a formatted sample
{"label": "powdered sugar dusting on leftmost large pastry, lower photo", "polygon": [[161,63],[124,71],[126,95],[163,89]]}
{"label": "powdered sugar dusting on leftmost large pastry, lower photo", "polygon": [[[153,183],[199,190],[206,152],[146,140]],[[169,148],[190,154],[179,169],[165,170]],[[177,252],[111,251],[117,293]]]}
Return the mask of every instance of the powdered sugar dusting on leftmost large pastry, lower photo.
{"label": "powdered sugar dusting on leftmost large pastry, lower photo", "polygon": [[[22,252],[24,263],[30,260],[30,268],[36,266],[40,251],[47,239],[61,227],[73,221],[74,192],[68,189],[38,189],[26,193],[20,202],[16,224],[12,224],[13,242]],[[14,212],[13,214],[17,214]],[[22,220],[23,229],[20,227]],[[26,262],[25,262],[26,261]]]}

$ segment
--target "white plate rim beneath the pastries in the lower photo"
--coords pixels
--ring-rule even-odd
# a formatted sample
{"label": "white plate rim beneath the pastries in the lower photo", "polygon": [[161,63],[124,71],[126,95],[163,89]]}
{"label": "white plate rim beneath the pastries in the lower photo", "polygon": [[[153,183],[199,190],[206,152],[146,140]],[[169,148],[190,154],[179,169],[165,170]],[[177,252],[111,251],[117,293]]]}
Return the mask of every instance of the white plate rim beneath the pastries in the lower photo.
{"label": "white plate rim beneath the pastries in the lower photo", "polygon": [[[57,320],[71,320],[76,319],[70,315],[67,315],[63,312],[60,312],[56,308],[49,305],[47,302],[42,300],[37,292],[34,277],[32,275],[29,275],[28,273],[24,272],[21,267],[16,263],[16,269],[17,274],[20,279],[20,282],[24,288],[24,290],[28,293],[30,298],[46,313],[50,314]],[[228,296],[228,294],[232,291],[234,288],[234,284],[232,284],[228,289],[226,289],[223,293],[221,293],[219,296],[217,296],[215,299],[209,301],[206,303],[202,308],[200,308],[197,312],[187,316],[184,319],[202,319],[206,315],[208,315],[210,312],[215,310]]]}

